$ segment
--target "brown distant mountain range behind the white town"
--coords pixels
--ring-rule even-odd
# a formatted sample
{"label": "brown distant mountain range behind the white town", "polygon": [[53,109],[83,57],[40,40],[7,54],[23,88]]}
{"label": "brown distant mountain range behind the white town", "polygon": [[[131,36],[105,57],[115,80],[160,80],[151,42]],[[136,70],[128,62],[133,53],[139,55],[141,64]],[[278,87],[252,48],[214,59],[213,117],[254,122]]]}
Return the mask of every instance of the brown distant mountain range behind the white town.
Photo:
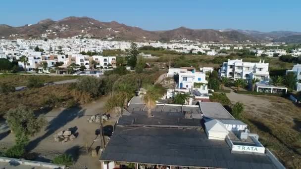
{"label": "brown distant mountain range behind the white town", "polygon": [[100,22],[89,17],[67,17],[58,21],[41,20],[37,24],[12,27],[0,25],[0,37],[16,38],[91,37],[115,41],[171,41],[195,40],[200,42],[301,42],[300,32],[277,31],[263,33],[249,30],[189,29],[180,27],[167,31],[147,31],[118,22]]}

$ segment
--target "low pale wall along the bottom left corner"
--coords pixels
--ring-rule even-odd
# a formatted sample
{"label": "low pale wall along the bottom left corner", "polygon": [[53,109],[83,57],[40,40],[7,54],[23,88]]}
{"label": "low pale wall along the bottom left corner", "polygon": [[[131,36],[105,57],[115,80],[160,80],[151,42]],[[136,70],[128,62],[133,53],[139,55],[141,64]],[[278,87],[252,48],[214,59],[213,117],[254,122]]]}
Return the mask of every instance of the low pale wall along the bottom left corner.
{"label": "low pale wall along the bottom left corner", "polygon": [[56,165],[52,163],[43,163],[43,162],[37,162],[37,161],[29,161],[24,159],[13,159],[13,158],[7,158],[7,157],[0,157],[0,162],[2,163],[19,163],[20,165],[25,166],[35,166],[35,167],[44,167],[49,169],[65,169],[65,166],[62,165]]}

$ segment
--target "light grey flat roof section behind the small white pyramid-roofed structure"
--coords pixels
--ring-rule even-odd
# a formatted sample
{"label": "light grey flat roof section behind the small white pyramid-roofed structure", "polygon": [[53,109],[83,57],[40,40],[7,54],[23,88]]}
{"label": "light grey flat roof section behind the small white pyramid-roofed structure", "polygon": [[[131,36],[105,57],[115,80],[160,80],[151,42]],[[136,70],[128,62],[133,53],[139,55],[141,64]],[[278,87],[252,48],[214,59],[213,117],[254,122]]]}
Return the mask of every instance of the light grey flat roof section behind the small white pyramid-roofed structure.
{"label": "light grey flat roof section behind the small white pyramid-roofed structure", "polygon": [[234,117],[216,102],[200,102],[201,112],[205,117],[213,119],[234,119]]}

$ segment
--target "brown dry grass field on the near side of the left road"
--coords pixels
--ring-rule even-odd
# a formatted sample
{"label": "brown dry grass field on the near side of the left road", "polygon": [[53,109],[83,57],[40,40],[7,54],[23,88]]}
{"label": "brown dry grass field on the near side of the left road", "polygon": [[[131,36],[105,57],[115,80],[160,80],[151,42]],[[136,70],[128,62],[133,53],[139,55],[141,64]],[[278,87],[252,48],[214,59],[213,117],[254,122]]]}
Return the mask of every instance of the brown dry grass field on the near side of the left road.
{"label": "brown dry grass field on the near side of the left road", "polygon": [[88,93],[70,89],[70,84],[49,85],[0,95],[0,115],[17,105],[37,111],[42,107],[71,107],[92,101]]}

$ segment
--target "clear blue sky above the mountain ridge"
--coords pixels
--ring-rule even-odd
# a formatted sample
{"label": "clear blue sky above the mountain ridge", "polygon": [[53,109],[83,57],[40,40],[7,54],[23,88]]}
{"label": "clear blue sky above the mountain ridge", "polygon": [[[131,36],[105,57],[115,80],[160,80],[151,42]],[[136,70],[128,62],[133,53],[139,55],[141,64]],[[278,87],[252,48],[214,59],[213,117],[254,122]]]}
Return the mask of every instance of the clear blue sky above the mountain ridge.
{"label": "clear blue sky above the mountain ridge", "polygon": [[243,29],[301,32],[301,0],[1,0],[0,24],[88,16],[145,30]]}

